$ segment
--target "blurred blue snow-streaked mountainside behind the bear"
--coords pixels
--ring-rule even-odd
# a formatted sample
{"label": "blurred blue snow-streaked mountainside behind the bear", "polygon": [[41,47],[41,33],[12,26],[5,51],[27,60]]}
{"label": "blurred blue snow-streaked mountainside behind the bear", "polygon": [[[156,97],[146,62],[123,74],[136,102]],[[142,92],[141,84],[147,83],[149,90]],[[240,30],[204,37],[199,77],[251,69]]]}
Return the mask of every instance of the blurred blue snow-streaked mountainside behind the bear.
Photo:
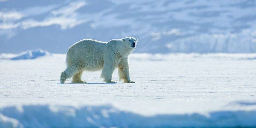
{"label": "blurred blue snow-streaked mountainside behind the bear", "polygon": [[134,52],[256,52],[256,0],[0,0],[0,53],[65,53],[134,36]]}

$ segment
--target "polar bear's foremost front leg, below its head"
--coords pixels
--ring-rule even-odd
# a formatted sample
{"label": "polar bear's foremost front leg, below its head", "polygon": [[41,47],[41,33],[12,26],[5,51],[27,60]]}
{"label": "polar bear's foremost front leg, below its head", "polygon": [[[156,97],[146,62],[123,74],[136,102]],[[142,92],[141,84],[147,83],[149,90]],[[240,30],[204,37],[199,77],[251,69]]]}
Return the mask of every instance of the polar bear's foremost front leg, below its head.
{"label": "polar bear's foremost front leg, below its head", "polygon": [[124,83],[135,83],[130,80],[130,71],[128,57],[123,58],[118,64],[118,75],[120,80],[124,80]]}

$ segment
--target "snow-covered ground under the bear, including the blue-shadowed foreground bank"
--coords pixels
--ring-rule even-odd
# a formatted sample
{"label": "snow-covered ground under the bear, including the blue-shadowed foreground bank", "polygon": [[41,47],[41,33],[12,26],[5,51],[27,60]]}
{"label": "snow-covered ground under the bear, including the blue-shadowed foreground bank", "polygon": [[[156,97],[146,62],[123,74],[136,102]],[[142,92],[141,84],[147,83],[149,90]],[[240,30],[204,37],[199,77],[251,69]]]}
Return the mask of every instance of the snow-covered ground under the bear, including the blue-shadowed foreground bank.
{"label": "snow-covered ground under the bear, including the blue-shadowed foreground bank", "polygon": [[[5,54],[6,55],[6,54]],[[0,60],[0,127],[256,127],[256,54],[133,53],[135,84],[60,84],[65,54]]]}

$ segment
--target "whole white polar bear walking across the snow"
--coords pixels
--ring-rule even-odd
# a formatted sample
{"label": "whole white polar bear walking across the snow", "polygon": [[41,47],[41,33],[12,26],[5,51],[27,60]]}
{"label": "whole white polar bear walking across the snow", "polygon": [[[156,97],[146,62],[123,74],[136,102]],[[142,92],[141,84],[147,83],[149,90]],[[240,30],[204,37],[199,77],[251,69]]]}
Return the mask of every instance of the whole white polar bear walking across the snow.
{"label": "whole white polar bear walking across the snow", "polygon": [[61,72],[60,83],[73,77],[72,83],[86,83],[81,79],[83,71],[102,70],[101,78],[107,83],[112,81],[112,74],[118,68],[119,79],[124,83],[130,80],[128,55],[135,49],[138,39],[125,37],[108,42],[83,39],[69,47],[66,57],[67,68]]}

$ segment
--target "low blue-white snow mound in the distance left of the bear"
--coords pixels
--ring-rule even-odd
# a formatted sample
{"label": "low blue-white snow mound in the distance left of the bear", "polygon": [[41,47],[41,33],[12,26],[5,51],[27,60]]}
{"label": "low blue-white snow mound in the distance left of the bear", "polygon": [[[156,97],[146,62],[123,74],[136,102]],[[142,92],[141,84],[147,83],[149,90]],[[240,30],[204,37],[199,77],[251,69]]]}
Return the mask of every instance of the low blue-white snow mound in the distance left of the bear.
{"label": "low blue-white snow mound in the distance left of the bear", "polygon": [[27,60],[27,59],[36,59],[38,57],[51,55],[50,52],[47,52],[42,49],[28,50],[21,52],[19,54],[0,54],[0,59],[10,59],[10,60]]}

